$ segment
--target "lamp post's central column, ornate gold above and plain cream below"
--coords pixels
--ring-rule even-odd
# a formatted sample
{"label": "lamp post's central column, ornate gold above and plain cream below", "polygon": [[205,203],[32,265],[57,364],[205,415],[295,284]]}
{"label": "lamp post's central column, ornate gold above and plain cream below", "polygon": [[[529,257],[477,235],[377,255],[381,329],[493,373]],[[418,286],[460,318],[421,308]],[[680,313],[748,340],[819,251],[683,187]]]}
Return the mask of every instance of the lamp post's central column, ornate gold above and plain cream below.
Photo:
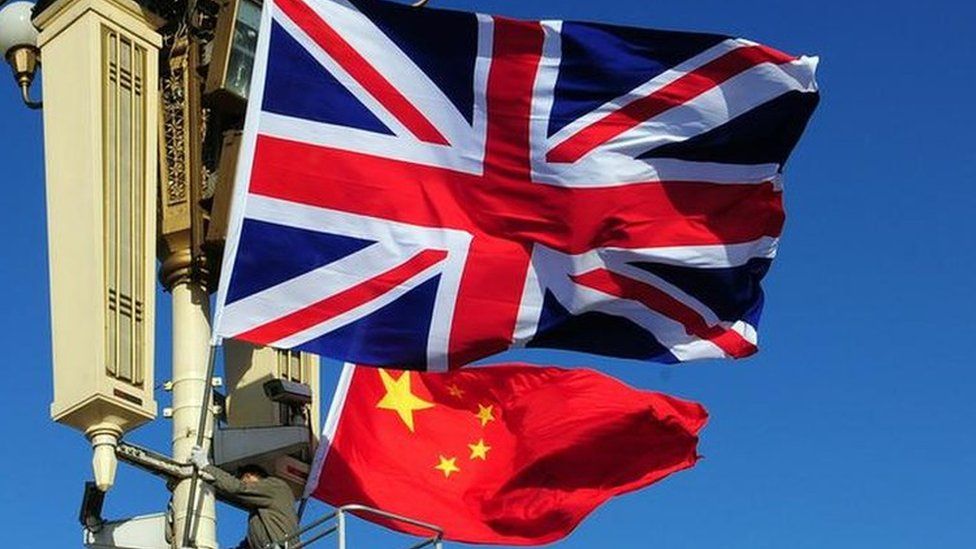
{"label": "lamp post's central column, ornate gold above and plain cream below", "polygon": [[[160,280],[173,304],[173,459],[186,462],[197,443],[200,414],[207,414],[203,446],[213,438],[212,406],[201,409],[207,380],[210,345],[209,268],[202,249],[205,227],[203,193],[203,135],[206,118],[201,103],[198,67],[200,45],[186,36],[164,50],[167,66],[160,78],[162,125],[160,135]],[[210,400],[212,402],[212,399]],[[173,547],[181,547],[188,524],[193,546],[213,548],[216,505],[213,488],[186,479],[173,488]],[[194,501],[188,505],[191,491]]]}

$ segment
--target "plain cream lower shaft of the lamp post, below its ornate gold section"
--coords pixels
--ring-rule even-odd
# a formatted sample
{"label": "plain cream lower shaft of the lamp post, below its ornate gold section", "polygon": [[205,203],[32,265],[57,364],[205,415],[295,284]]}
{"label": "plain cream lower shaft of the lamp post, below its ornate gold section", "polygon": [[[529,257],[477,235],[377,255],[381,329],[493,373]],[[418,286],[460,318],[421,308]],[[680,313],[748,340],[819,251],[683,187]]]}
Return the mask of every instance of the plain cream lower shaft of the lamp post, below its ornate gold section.
{"label": "plain cream lower shaft of the lamp post, below its ornate gold section", "polygon": [[[207,366],[210,348],[210,297],[202,283],[184,278],[172,288],[173,295],[173,459],[186,463],[197,443],[204,391],[208,386]],[[210,447],[213,414],[208,407],[203,447]],[[173,489],[174,547],[180,546],[190,507],[191,485],[184,479]],[[195,547],[217,547],[216,502],[213,487],[197,482],[192,506]]]}

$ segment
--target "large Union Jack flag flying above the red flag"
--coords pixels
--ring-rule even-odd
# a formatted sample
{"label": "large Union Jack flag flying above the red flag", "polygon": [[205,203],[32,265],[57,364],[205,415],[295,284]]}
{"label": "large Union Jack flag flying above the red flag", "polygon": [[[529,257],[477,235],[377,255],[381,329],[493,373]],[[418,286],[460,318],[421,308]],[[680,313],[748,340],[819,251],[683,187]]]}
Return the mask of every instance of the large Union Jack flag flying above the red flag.
{"label": "large Union Jack flag flying above the red flag", "polygon": [[815,58],[375,0],[267,0],[215,333],[444,370],[756,351]]}

